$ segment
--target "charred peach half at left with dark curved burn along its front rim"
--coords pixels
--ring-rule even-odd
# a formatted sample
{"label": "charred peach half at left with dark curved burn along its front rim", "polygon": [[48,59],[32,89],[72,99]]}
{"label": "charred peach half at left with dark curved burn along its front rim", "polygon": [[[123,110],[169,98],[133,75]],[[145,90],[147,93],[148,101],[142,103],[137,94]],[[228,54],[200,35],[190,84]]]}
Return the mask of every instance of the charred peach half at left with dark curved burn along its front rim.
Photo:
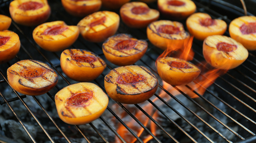
{"label": "charred peach half at left with dark curved burn along its front rim", "polygon": [[26,95],[44,94],[58,82],[57,73],[46,63],[38,60],[21,60],[7,69],[11,87]]}

